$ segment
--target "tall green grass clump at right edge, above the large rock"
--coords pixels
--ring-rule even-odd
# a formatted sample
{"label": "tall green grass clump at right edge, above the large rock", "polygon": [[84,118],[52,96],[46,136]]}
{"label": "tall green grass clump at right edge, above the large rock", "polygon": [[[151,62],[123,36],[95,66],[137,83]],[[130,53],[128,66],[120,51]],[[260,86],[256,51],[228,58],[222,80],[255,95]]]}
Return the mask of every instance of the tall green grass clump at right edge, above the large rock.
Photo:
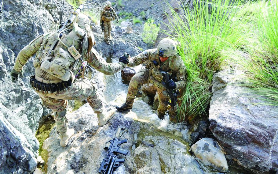
{"label": "tall green grass clump at right edge, above the large rock", "polygon": [[257,97],[264,104],[278,106],[278,2],[256,2],[254,8],[258,12],[253,29],[258,31],[261,51],[250,48],[250,59],[242,60],[243,67]]}

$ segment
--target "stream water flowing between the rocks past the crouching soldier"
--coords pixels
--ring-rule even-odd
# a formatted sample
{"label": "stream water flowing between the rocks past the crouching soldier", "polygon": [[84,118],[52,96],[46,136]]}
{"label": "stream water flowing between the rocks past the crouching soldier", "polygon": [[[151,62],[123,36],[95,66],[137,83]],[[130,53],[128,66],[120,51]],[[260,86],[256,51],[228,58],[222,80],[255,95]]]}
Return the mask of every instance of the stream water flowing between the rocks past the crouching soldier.
{"label": "stream water flowing between the rocks past the crouching soldier", "polygon": [[[117,58],[108,58],[106,60],[109,62],[118,62]],[[134,67],[136,72],[138,72],[142,66]],[[119,106],[124,103],[126,99],[126,93],[128,89],[128,83],[122,80],[121,72],[115,73],[113,75],[104,75],[105,88],[103,93],[105,100],[108,104],[112,106]],[[132,118],[134,120],[146,123],[152,123],[156,128],[165,131],[172,132],[177,137],[183,140],[188,140],[190,138],[190,133],[183,123],[171,123],[169,121],[169,116],[166,115],[166,119],[160,120],[152,109],[152,107],[146,104],[142,98],[135,98],[133,108],[130,112],[126,113],[125,118]],[[128,121],[127,121],[128,122]],[[174,165],[174,164],[173,164]],[[217,170],[208,167],[200,163],[201,168],[207,174],[218,174]],[[229,166],[229,172],[227,174],[243,174],[241,170]],[[119,170],[118,170],[119,172]],[[120,172],[119,172],[120,173]]]}

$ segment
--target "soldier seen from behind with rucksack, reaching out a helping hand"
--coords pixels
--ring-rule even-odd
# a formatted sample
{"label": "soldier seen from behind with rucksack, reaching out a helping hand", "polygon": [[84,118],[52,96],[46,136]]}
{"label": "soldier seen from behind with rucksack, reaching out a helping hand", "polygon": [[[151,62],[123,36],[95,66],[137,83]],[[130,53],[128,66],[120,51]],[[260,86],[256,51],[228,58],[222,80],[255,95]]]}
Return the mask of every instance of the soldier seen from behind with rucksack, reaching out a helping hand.
{"label": "soldier seen from behind with rucksack, reaching out a helping hand", "polygon": [[[50,48],[58,36],[60,40],[52,52]],[[93,44],[90,20],[86,15],[79,13],[75,21],[60,33],[55,31],[39,36],[24,47],[17,55],[11,72],[12,81],[17,81],[23,66],[36,54],[35,75],[31,77],[30,83],[42,99],[42,104],[55,112],[54,119],[60,133],[60,145],[63,147],[74,134],[73,129],[68,129],[66,118],[68,100],[87,99],[97,113],[100,126],[106,124],[115,113],[115,109],[106,110],[104,107],[97,93],[96,83],[84,77],[86,68],[90,67],[83,59],[104,74],[114,74],[125,68],[126,64],[107,63],[93,48]],[[69,54],[69,48],[72,47],[79,50],[81,58],[76,59]],[[64,79],[67,75],[69,80]]]}

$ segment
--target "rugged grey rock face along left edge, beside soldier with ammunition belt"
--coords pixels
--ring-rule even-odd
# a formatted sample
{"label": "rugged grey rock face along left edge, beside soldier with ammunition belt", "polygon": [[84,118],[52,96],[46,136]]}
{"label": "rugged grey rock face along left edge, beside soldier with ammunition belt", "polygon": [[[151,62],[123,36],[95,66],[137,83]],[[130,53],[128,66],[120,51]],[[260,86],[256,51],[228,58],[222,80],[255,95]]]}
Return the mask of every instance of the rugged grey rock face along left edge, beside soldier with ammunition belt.
{"label": "rugged grey rock face along left edge, beside soldier with ammunition belt", "polygon": [[[57,0],[0,1],[0,113],[4,117],[2,119],[11,124],[12,132],[18,130],[22,133],[13,136],[12,133],[5,134],[5,126],[0,128],[4,133],[0,142],[5,143],[1,150],[2,154],[6,153],[6,157],[0,158],[0,171],[4,170],[4,173],[29,173],[33,170],[28,160],[38,155],[39,143],[35,132],[43,113],[41,101],[29,85],[29,76],[34,72],[33,59],[26,64],[24,78],[17,83],[12,83],[9,73],[16,55],[24,46],[57,26],[60,6]],[[71,7],[65,5],[64,9],[69,11]],[[7,138],[11,144],[6,144]]]}

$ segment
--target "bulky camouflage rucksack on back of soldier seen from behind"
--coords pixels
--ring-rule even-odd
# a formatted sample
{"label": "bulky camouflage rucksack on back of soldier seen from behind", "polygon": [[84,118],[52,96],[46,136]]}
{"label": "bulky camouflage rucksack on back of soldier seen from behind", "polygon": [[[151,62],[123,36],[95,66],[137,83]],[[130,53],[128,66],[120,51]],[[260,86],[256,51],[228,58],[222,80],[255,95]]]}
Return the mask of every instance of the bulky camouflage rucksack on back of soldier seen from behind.
{"label": "bulky camouflage rucksack on back of soldier seen from behind", "polygon": [[[59,40],[58,44],[53,48],[56,40]],[[41,47],[44,49],[40,58],[41,69],[68,81],[74,74],[72,66],[77,64],[88,49],[87,32],[78,23],[73,22],[61,32],[53,32],[46,36]]]}

